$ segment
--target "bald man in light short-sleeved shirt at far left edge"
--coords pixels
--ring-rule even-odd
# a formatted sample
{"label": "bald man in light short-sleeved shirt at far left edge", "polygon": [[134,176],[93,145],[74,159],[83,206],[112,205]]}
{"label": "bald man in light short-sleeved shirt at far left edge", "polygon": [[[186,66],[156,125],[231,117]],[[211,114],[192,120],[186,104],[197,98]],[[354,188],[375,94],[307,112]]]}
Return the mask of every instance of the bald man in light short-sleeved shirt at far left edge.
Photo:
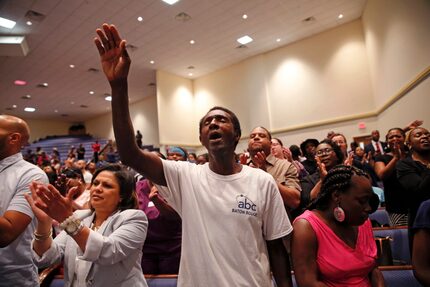
{"label": "bald man in light short-sleeved shirt at far left edge", "polygon": [[33,180],[48,177],[22,157],[29,137],[25,121],[0,115],[0,286],[39,286],[31,254],[35,222],[24,194]]}

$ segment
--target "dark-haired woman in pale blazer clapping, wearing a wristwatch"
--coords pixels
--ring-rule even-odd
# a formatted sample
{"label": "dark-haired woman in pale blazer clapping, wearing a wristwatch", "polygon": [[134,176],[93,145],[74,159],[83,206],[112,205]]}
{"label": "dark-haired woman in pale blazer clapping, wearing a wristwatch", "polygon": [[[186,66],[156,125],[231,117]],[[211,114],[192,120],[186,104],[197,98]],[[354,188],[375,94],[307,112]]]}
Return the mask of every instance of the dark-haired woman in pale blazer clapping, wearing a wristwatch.
{"label": "dark-haired woman in pale blazer clapping, wearing a wristwatch", "polygon": [[[64,262],[65,286],[147,286],[140,262],[148,220],[135,209],[133,176],[119,165],[96,171],[91,209],[73,213],[74,189],[63,197],[33,182],[26,198],[38,220],[33,257],[39,267]],[[51,236],[52,219],[63,231]]]}

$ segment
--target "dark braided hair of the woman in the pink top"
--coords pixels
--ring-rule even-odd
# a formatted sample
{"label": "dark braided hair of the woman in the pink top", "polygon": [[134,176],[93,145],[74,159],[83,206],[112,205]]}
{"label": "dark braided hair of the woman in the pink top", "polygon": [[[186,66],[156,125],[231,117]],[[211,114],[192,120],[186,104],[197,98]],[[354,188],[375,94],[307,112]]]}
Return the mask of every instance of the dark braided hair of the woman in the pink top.
{"label": "dark braided hair of the woman in the pink top", "polygon": [[354,166],[337,165],[330,169],[322,181],[320,193],[311,202],[309,209],[327,209],[331,195],[336,191],[346,192],[351,187],[351,179],[354,175],[368,178],[367,173]]}

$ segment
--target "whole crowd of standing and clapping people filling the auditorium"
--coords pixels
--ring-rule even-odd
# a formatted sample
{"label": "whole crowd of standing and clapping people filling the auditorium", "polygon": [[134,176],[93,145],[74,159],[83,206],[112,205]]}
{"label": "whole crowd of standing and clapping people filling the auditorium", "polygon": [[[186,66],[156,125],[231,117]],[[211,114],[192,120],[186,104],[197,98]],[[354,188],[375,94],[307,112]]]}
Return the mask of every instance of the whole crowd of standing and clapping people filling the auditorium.
{"label": "whole crowd of standing and clapping people filling the auditorium", "polygon": [[[408,226],[417,279],[430,286],[430,133],[423,122],[372,131],[365,146],[339,131],[286,147],[265,127],[236,153],[239,119],[210,109],[196,155],[142,149],[130,120],[130,58],[118,31],[97,30],[112,88],[115,142],[21,154],[30,130],[0,115],[0,286],[38,286],[62,262],[65,286],[385,286],[369,215]],[[42,171],[43,170],[43,171]],[[10,285],[12,283],[12,285]]]}

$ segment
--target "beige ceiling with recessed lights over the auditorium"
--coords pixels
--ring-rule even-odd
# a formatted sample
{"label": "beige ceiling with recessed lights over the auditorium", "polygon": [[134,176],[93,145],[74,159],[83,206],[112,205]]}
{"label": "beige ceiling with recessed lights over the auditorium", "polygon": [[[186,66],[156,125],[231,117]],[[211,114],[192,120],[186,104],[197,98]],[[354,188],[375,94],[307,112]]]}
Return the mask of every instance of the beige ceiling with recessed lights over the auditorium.
{"label": "beige ceiling with recessed lights over the auditorium", "polygon": [[[132,45],[129,94],[130,102],[136,102],[155,95],[156,70],[195,79],[358,19],[365,4],[366,0],[180,0],[170,6],[161,0],[0,0],[0,17],[17,22],[11,30],[0,27],[0,36],[25,35],[29,46],[26,56],[0,53],[0,113],[68,122],[106,113],[110,103],[104,98],[110,89],[93,43],[95,29],[105,22],[115,24]],[[29,10],[42,16],[29,15]],[[175,19],[181,12],[191,19]],[[344,17],[339,19],[339,14]],[[313,18],[304,21],[309,17]],[[254,41],[237,48],[236,39],[244,35]],[[17,86],[15,80],[27,85]],[[42,83],[48,87],[40,87]],[[23,99],[27,95],[31,99]],[[25,107],[36,111],[25,112]]]}

